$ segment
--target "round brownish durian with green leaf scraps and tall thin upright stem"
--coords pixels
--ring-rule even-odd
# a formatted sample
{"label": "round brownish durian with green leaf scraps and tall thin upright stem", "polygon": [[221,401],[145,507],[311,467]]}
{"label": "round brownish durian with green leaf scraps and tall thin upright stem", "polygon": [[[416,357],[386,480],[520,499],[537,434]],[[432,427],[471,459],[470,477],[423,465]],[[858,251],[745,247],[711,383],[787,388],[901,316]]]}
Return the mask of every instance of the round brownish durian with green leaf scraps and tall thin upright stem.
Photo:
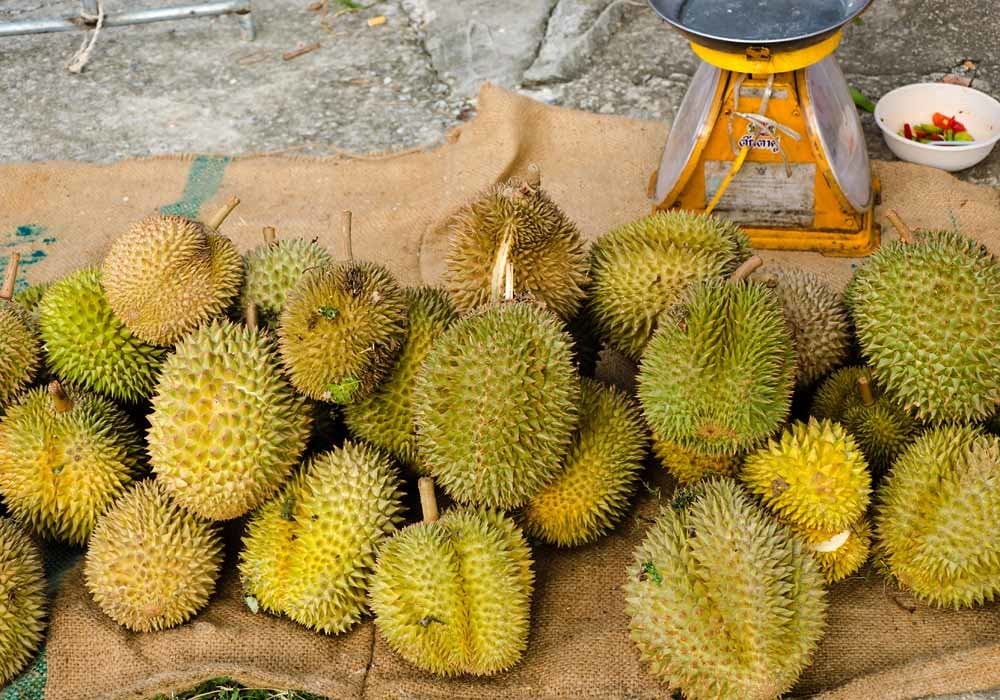
{"label": "round brownish durian with green leaf scraps and tall thin upright stem", "polygon": [[406,340],[406,296],[388,270],[344,262],[310,270],[288,294],[278,337],[292,384],[311,399],[370,396]]}

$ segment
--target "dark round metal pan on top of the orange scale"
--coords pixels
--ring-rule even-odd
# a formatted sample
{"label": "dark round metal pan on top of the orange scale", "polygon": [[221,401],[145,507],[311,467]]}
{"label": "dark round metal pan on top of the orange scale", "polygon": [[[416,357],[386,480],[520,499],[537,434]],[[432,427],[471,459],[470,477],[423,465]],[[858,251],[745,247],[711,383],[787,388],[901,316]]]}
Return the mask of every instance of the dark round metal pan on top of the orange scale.
{"label": "dark round metal pan on top of the orange scale", "polygon": [[691,41],[722,51],[772,51],[818,44],[860,15],[872,0],[649,0]]}

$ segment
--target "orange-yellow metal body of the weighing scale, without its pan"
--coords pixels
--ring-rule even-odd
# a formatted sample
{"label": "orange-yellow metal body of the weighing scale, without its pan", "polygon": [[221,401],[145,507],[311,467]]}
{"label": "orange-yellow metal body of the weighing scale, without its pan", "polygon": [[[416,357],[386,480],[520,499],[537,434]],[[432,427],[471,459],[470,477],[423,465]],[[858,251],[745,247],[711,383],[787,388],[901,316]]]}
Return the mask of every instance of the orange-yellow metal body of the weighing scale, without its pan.
{"label": "orange-yellow metal body of the weighing scale, without its pan", "polygon": [[[806,118],[810,105],[804,69],[832,54],[840,38],[838,32],[819,44],[773,54],[754,48],[744,53],[730,53],[692,44],[700,58],[724,73],[708,116],[698,132],[692,155],[673,189],[656,209],[705,212],[712,211],[715,205],[716,213],[743,225],[756,248],[816,251],[847,257],[863,256],[877,248],[880,232],[873,215],[879,194],[877,179],[872,179],[872,196],[867,208],[856,211],[838,185],[818,134],[809,128]],[[745,135],[749,122],[734,116],[733,112],[757,113],[772,76],[771,97],[764,116],[801,138],[781,138],[781,152],[759,147],[739,148],[742,145],[739,139]],[[737,86],[740,98],[738,109],[734,110]],[[734,152],[734,142],[739,151],[745,153]],[[808,177],[812,183],[810,213],[793,217],[797,219],[794,221],[772,221],[769,222],[772,225],[767,226],[760,221],[741,221],[736,212],[726,210],[726,192],[741,190],[746,197],[752,196],[753,188],[757,187],[766,197],[766,176],[774,178],[775,173],[787,171],[789,167],[799,174],[800,182],[802,176],[808,177],[814,170],[814,175]],[[774,179],[770,182],[778,183]],[[707,191],[709,187],[715,191]],[[718,191],[720,188],[722,193]],[[780,183],[775,190],[779,189]]]}

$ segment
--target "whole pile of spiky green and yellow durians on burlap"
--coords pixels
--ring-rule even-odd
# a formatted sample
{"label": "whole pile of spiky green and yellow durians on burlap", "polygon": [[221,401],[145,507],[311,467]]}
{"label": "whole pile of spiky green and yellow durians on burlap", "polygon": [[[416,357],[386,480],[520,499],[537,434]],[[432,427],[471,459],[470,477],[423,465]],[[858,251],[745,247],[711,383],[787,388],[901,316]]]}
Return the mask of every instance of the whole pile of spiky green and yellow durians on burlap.
{"label": "whole pile of spiky green and yellow durians on burlap", "polygon": [[[0,683],[43,636],[39,542],[85,546],[95,604],[146,633],[205,607],[234,520],[254,613],[330,635],[373,614],[420,669],[500,673],[527,649],[533,551],[608,535],[647,468],[678,487],[621,612],[686,698],[789,690],[826,586],[869,560],[931,605],[1000,589],[1000,264],[979,243],[899,222],[841,296],[718,218],[588,250],[534,170],[454,215],[442,288],[404,288],[353,259],[349,215],[340,259],[273,228],[241,256],[236,204],[145,218],[16,295],[8,270]],[[631,388],[594,378],[616,358]]]}

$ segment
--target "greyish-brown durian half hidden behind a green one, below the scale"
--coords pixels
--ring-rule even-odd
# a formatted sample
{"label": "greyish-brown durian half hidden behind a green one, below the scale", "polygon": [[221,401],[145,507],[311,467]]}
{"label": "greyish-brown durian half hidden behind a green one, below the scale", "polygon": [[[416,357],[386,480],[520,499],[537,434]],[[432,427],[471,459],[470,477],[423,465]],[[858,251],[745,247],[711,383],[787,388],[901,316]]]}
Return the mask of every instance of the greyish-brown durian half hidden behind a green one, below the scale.
{"label": "greyish-brown durian half hidden behind a green one, below the scale", "polygon": [[851,331],[839,294],[815,274],[797,268],[768,269],[754,279],[771,287],[781,302],[795,346],[798,386],[811,386],[844,363]]}

